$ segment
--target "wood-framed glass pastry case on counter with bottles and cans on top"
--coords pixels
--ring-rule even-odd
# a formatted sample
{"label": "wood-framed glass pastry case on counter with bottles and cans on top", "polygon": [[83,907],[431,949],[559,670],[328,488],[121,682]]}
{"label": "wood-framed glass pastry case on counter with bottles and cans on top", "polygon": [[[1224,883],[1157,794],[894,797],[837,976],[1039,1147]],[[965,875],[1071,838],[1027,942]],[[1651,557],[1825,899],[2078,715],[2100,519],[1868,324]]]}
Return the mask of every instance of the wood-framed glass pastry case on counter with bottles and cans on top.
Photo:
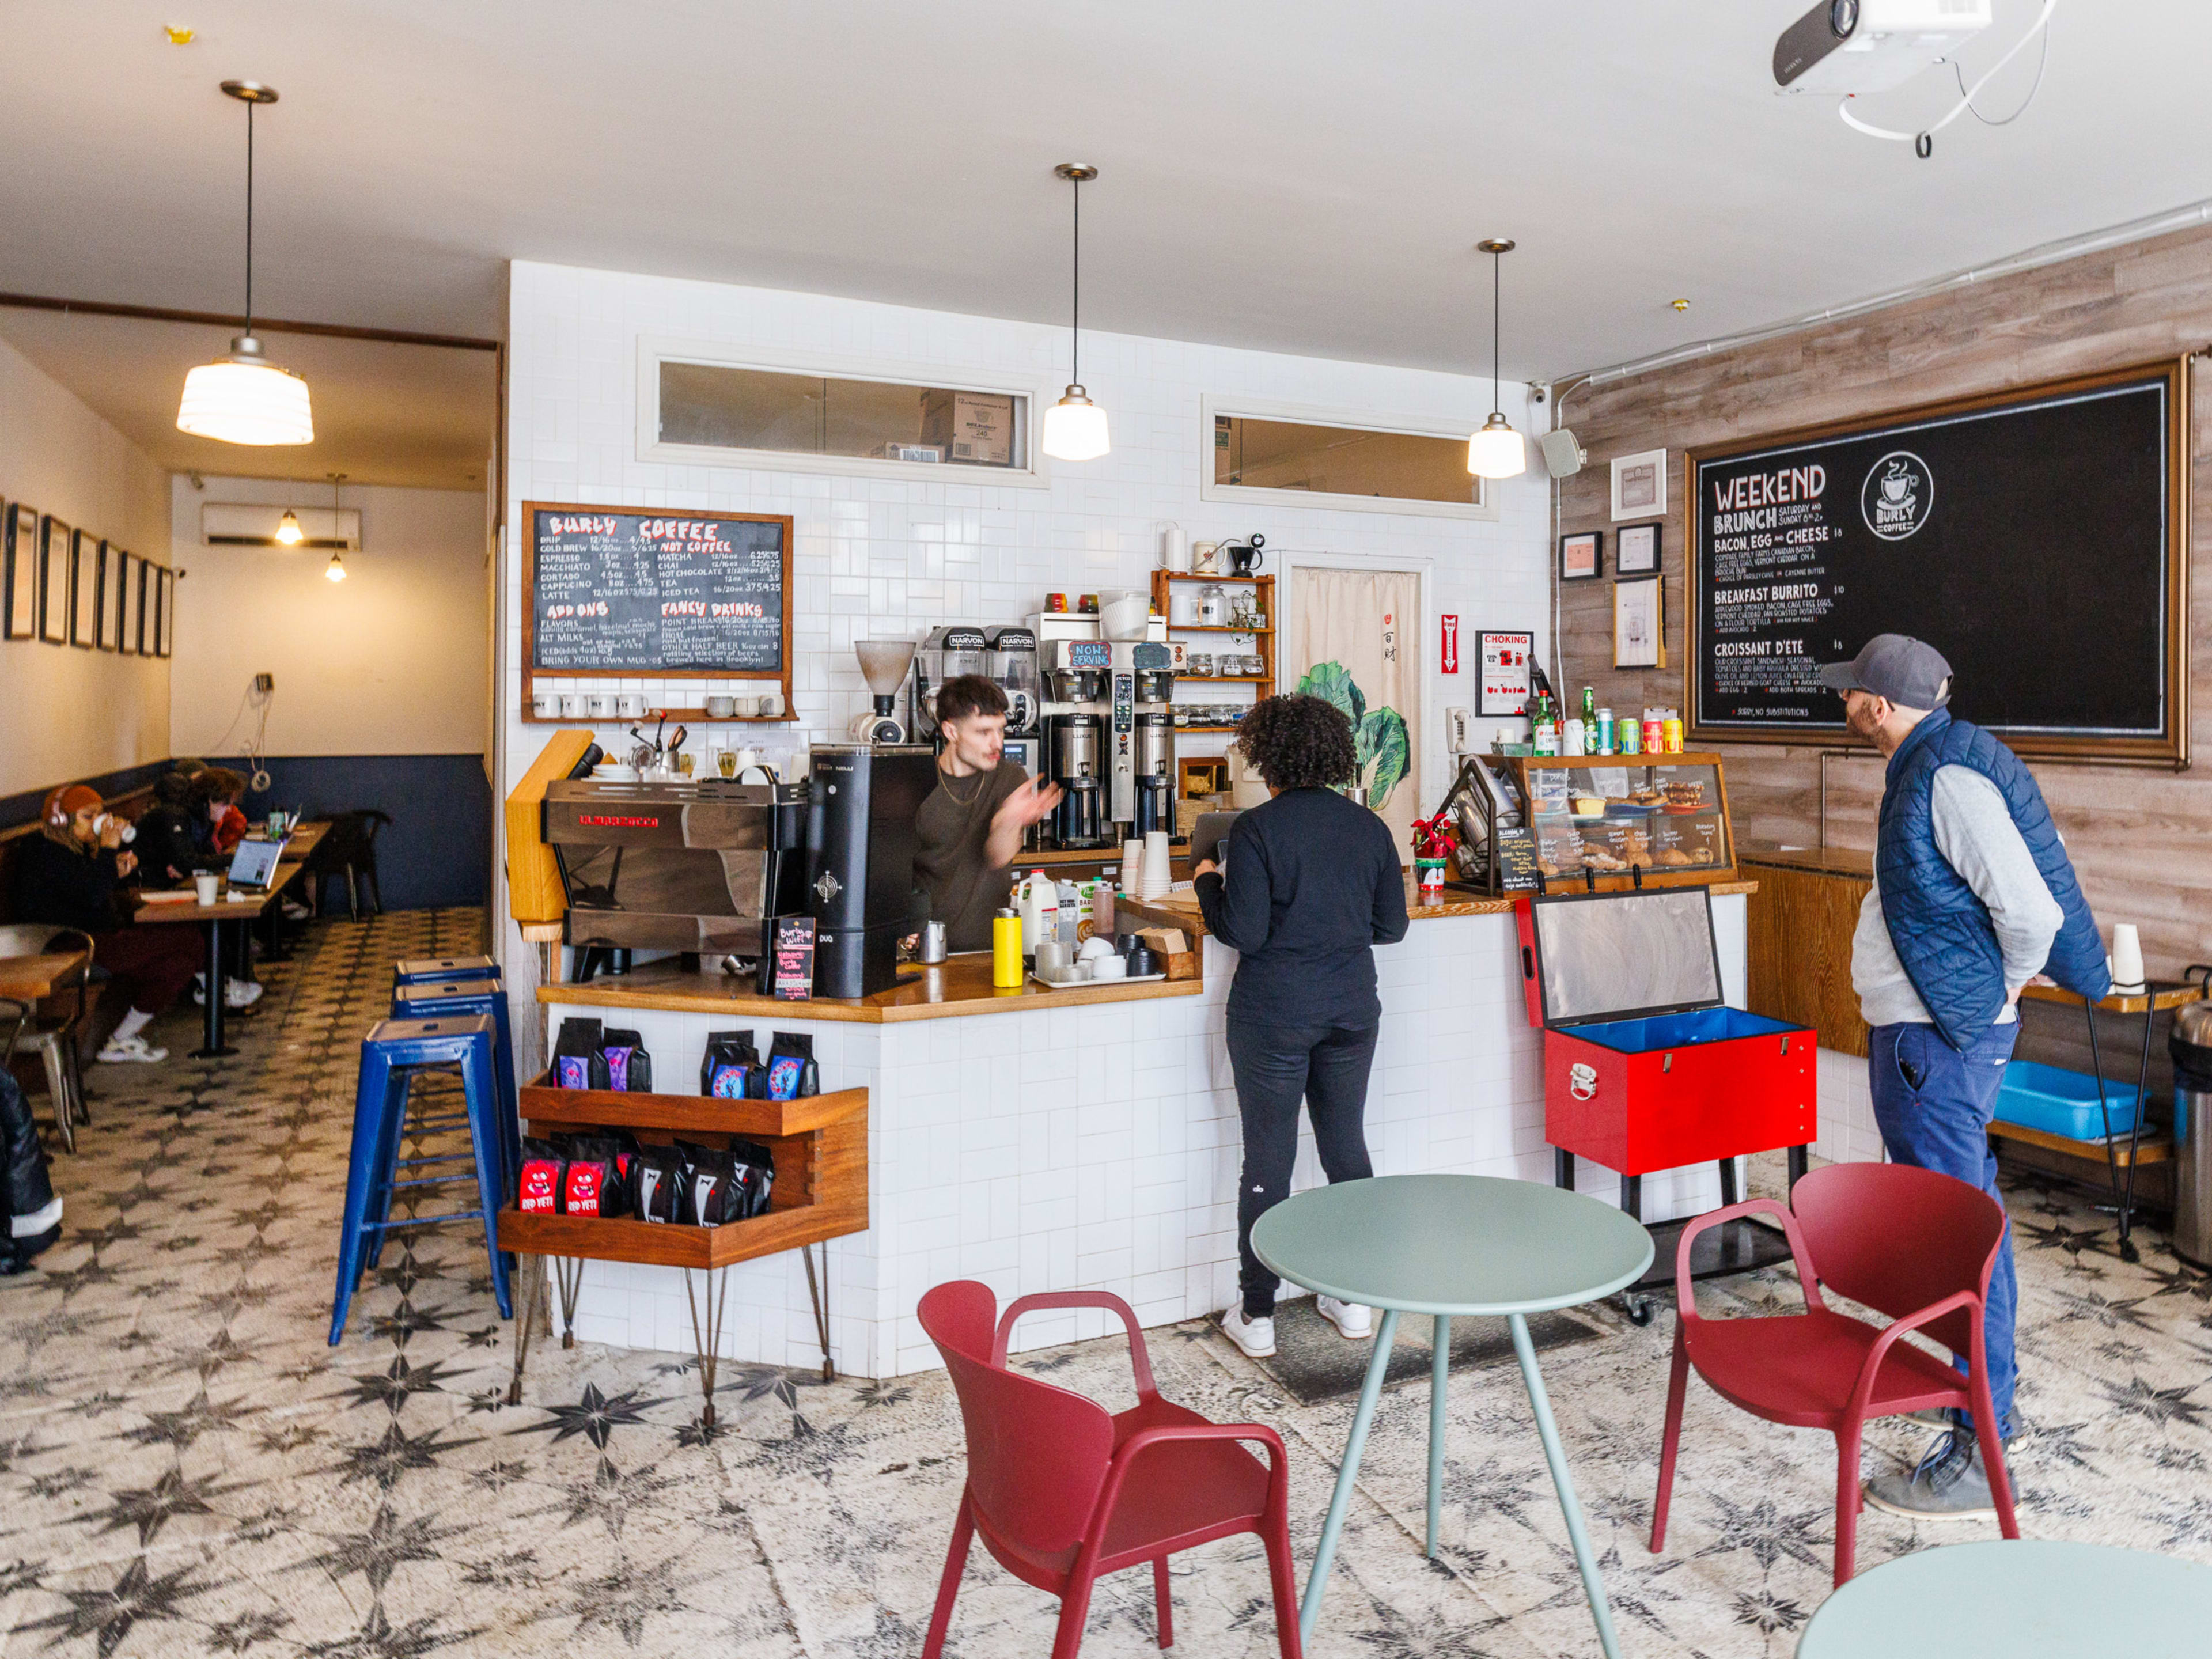
{"label": "wood-framed glass pastry case on counter with bottles and cans on top", "polygon": [[1736,836],[1719,754],[1500,757],[1522,796],[1540,885],[1732,880]]}

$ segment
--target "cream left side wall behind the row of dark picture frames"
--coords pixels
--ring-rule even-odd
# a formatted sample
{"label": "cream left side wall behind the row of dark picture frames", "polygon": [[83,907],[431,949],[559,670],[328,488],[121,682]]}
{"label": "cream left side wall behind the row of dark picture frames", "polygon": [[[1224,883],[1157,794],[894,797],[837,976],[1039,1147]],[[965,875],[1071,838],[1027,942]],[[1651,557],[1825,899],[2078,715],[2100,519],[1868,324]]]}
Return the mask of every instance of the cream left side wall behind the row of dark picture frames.
{"label": "cream left side wall behind the row of dark picture frames", "polygon": [[[0,495],[168,557],[168,480],[115,427],[0,343]],[[0,641],[0,796],[168,757],[168,661]]]}

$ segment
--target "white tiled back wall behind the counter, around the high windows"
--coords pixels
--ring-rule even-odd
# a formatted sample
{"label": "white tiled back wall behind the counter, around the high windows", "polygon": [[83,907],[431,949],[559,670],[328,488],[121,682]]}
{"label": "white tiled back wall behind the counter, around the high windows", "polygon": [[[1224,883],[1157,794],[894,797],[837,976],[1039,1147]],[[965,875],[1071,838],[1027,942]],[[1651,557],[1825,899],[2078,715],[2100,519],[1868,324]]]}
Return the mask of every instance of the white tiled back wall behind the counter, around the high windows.
{"label": "white tiled back wall behind the counter, around the high windows", "polygon": [[[796,721],[783,728],[785,737],[770,739],[770,748],[841,734],[867,706],[852,655],[856,637],[920,637],[938,622],[1015,622],[1037,611],[1048,591],[1139,586],[1155,564],[1159,520],[1175,520],[1190,540],[1263,531],[1281,555],[1358,560],[1376,568],[1429,566],[1431,608],[1455,613],[1462,639],[1462,670],[1438,681],[1431,712],[1447,701],[1473,701],[1467,657],[1478,628],[1546,630],[1548,491],[1537,482],[1542,476],[1502,487],[1498,522],[1199,500],[1199,471],[1208,462],[1201,396],[1314,405],[1352,418],[1363,411],[1436,418],[1464,431],[1491,407],[1486,378],[1084,334],[1084,380],[1113,420],[1113,453],[1095,462],[1055,462],[1051,489],[1022,489],[639,460],[637,343],[639,336],[679,336],[741,349],[973,365],[1057,385],[1068,372],[1064,327],[518,261],[509,283],[509,332],[502,794],[549,734],[546,726],[518,719],[524,500],[790,513],[796,520]],[[1520,405],[1509,414],[1528,429]],[[1429,617],[1422,648],[1431,664],[1436,644]],[[608,681],[608,688],[617,684],[630,686]],[[653,681],[635,686],[655,690]],[[1440,796],[1451,779],[1440,728],[1440,719],[1425,728],[1425,801]],[[761,730],[745,728],[748,741]],[[511,949],[511,964],[520,956]]]}

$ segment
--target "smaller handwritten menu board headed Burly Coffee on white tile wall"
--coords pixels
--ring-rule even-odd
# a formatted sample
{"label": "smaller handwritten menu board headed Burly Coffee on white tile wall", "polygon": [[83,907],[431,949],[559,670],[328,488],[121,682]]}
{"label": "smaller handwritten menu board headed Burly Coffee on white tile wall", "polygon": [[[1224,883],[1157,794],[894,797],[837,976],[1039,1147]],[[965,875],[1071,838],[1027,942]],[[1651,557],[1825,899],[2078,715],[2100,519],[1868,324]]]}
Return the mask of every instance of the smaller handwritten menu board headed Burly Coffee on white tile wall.
{"label": "smaller handwritten menu board headed Burly Coffee on white tile wall", "polygon": [[531,668],[783,675],[783,518],[529,502]]}

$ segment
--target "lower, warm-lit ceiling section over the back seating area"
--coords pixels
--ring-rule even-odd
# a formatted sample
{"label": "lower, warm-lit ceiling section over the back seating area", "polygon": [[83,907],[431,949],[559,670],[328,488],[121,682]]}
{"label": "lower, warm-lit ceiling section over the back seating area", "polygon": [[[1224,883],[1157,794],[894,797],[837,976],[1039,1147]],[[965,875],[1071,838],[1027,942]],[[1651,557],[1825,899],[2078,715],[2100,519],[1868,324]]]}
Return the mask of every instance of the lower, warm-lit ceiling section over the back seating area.
{"label": "lower, warm-lit ceiling section over the back seating area", "polygon": [[263,334],[270,361],[307,380],[314,442],[254,449],[177,431],[186,372],[223,356],[232,334],[192,323],[0,305],[0,341],[173,473],[307,480],[345,473],[349,484],[484,487],[500,418],[491,352]]}

